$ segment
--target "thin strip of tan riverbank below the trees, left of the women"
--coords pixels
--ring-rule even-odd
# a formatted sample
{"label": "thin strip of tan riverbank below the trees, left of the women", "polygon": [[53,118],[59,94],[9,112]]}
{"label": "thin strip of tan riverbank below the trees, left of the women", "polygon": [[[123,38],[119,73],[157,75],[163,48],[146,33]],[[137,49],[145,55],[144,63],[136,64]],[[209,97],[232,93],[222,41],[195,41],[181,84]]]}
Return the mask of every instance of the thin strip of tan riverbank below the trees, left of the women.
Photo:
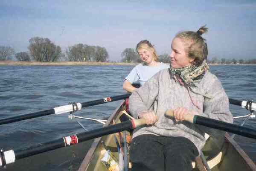
{"label": "thin strip of tan riverbank below the trees, left of the women", "polygon": [[26,62],[26,61],[0,61],[0,65],[135,65],[125,62]]}

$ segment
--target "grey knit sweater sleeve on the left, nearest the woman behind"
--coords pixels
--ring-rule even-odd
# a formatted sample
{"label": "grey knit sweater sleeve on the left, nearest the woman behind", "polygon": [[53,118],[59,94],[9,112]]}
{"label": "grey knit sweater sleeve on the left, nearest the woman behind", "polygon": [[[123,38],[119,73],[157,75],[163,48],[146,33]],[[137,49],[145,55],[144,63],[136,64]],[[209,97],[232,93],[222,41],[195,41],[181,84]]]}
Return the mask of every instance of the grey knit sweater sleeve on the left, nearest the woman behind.
{"label": "grey knit sweater sleeve on the left, nearest the woman behind", "polygon": [[146,81],[142,87],[134,90],[129,97],[129,110],[134,118],[138,118],[141,112],[152,111],[154,101],[158,97],[159,77],[160,72]]}

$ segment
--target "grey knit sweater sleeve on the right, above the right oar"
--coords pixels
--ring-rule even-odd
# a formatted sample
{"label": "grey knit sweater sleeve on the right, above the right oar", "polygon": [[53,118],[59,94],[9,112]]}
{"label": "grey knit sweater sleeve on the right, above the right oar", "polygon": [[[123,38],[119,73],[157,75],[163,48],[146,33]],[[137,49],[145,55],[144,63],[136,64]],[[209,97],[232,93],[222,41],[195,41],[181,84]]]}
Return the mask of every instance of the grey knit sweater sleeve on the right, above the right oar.
{"label": "grey knit sweater sleeve on the right, above the right oar", "polygon": [[208,87],[207,94],[212,95],[212,99],[205,98],[204,113],[201,116],[223,122],[233,123],[233,115],[229,109],[229,101],[221,82],[214,78],[212,85]]}

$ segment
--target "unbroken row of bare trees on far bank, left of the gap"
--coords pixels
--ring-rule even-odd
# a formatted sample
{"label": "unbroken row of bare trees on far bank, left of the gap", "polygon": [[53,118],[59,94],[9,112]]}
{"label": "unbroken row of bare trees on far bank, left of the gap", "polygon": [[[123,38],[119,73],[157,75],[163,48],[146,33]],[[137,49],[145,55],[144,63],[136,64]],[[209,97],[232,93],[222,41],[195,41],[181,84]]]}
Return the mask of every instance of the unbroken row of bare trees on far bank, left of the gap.
{"label": "unbroken row of bare trees on far bank, left of the gap", "polygon": [[64,51],[55,45],[49,38],[33,37],[29,39],[28,52],[18,52],[10,46],[0,46],[0,61],[12,60],[14,55],[17,61],[57,62],[57,61],[96,61],[106,62],[108,52],[105,47],[75,44]]}

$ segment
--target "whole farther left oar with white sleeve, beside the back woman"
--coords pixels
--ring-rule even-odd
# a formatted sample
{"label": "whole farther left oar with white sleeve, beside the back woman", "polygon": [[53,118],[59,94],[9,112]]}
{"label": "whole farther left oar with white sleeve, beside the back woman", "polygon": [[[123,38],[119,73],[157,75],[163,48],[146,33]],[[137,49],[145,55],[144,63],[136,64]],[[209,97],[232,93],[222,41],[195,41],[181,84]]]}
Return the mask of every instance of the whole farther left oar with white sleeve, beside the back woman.
{"label": "whole farther left oar with white sleeve, beside the back woman", "polygon": [[12,122],[22,121],[22,120],[26,120],[26,119],[37,118],[40,116],[46,116],[46,115],[51,115],[51,114],[61,114],[61,113],[81,110],[81,108],[83,108],[83,107],[95,106],[95,105],[103,104],[103,103],[107,103],[107,102],[127,99],[127,98],[129,98],[130,95],[131,94],[122,94],[119,96],[106,97],[103,99],[88,101],[88,102],[83,102],[83,103],[73,103],[73,104],[68,104],[65,106],[55,107],[55,108],[49,109],[49,110],[43,110],[40,112],[4,118],[4,119],[0,119],[0,125],[9,124]]}

